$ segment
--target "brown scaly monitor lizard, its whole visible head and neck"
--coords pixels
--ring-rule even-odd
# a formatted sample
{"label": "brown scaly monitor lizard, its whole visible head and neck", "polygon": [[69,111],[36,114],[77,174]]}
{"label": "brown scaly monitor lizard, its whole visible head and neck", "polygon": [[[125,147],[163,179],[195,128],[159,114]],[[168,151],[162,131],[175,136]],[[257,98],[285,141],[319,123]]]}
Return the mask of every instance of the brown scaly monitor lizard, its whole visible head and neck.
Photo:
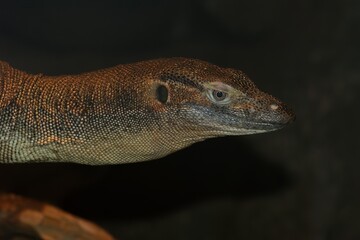
{"label": "brown scaly monitor lizard, its whole visible head and neck", "polygon": [[294,114],[241,71],[170,58],[69,76],[0,62],[0,162],[117,164],[207,138],[279,129]]}

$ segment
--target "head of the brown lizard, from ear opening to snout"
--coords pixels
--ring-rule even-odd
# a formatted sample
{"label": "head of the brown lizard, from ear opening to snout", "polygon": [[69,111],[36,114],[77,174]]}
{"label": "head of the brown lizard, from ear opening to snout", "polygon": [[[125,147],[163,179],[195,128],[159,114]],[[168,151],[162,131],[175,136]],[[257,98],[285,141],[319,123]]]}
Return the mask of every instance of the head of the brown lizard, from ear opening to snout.
{"label": "head of the brown lizard, from ear opening to snout", "polygon": [[177,116],[172,124],[178,129],[199,138],[245,135],[280,129],[295,118],[242,71],[185,58],[165,62],[154,96],[160,108]]}

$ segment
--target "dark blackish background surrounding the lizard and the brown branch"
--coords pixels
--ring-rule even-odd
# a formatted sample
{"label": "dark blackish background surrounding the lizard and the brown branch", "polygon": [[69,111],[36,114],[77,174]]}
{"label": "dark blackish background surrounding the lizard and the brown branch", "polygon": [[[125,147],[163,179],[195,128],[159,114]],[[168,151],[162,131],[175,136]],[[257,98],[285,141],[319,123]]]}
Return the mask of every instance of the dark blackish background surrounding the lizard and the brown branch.
{"label": "dark blackish background surrounding the lizard and the brown branch", "polygon": [[138,164],[1,165],[0,190],[124,240],[360,239],[360,1],[10,1],[0,59],[70,74],[168,56],[244,70],[292,106],[269,134]]}

